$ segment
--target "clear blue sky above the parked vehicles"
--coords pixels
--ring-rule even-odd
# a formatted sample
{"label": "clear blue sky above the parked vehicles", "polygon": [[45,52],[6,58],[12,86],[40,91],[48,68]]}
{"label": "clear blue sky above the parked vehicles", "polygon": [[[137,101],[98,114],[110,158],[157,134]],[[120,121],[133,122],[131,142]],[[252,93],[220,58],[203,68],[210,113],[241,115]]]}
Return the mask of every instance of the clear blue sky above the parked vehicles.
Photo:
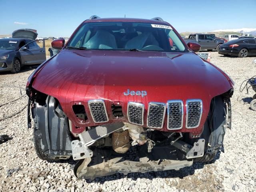
{"label": "clear blue sky above the parked vehicles", "polygon": [[21,28],[69,37],[92,15],[161,17],[178,32],[256,28],[256,0],[0,0],[0,35]]}

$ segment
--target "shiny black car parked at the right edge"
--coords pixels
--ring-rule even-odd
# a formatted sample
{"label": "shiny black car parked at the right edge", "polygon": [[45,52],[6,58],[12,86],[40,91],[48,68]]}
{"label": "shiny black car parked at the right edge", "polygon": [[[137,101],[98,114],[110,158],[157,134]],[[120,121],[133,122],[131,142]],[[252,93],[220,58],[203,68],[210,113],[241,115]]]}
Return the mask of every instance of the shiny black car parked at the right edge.
{"label": "shiny black car parked at the right edge", "polygon": [[242,38],[229,41],[220,46],[219,54],[247,57],[256,55],[256,39]]}

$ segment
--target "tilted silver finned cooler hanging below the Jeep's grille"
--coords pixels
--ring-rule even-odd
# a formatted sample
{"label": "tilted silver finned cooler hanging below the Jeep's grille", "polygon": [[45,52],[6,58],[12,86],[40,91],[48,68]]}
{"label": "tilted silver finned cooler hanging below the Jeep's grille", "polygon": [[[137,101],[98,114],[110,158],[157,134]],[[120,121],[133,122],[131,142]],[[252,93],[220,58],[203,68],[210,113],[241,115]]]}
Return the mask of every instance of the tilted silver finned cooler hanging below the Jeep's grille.
{"label": "tilted silver finned cooler hanging below the Jeep's grille", "polygon": [[102,126],[92,128],[88,131],[84,131],[81,134],[79,134],[79,137],[82,140],[83,144],[88,145],[110,133],[115,132],[116,130],[119,130],[123,126],[123,122],[105,124]]}

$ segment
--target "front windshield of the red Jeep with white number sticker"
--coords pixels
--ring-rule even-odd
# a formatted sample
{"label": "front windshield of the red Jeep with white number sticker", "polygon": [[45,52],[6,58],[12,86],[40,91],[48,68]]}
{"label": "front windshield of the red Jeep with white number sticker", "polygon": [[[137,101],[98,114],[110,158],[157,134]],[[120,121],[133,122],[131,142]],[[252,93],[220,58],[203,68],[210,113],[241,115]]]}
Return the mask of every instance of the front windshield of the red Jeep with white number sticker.
{"label": "front windshield of the red Jeep with white number sticker", "polygon": [[186,48],[170,26],[144,22],[84,23],[68,48],[184,52]]}

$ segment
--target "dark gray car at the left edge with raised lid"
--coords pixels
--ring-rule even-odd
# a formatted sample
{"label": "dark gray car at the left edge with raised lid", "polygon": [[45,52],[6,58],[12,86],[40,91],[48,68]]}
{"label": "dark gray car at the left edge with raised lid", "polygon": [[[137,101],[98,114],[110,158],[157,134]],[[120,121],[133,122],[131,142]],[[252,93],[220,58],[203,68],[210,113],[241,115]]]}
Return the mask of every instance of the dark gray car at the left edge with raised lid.
{"label": "dark gray car at the left edge with raised lid", "polygon": [[46,60],[45,48],[34,41],[34,30],[22,29],[12,33],[13,38],[0,39],[0,72],[19,72],[23,65],[41,64]]}

